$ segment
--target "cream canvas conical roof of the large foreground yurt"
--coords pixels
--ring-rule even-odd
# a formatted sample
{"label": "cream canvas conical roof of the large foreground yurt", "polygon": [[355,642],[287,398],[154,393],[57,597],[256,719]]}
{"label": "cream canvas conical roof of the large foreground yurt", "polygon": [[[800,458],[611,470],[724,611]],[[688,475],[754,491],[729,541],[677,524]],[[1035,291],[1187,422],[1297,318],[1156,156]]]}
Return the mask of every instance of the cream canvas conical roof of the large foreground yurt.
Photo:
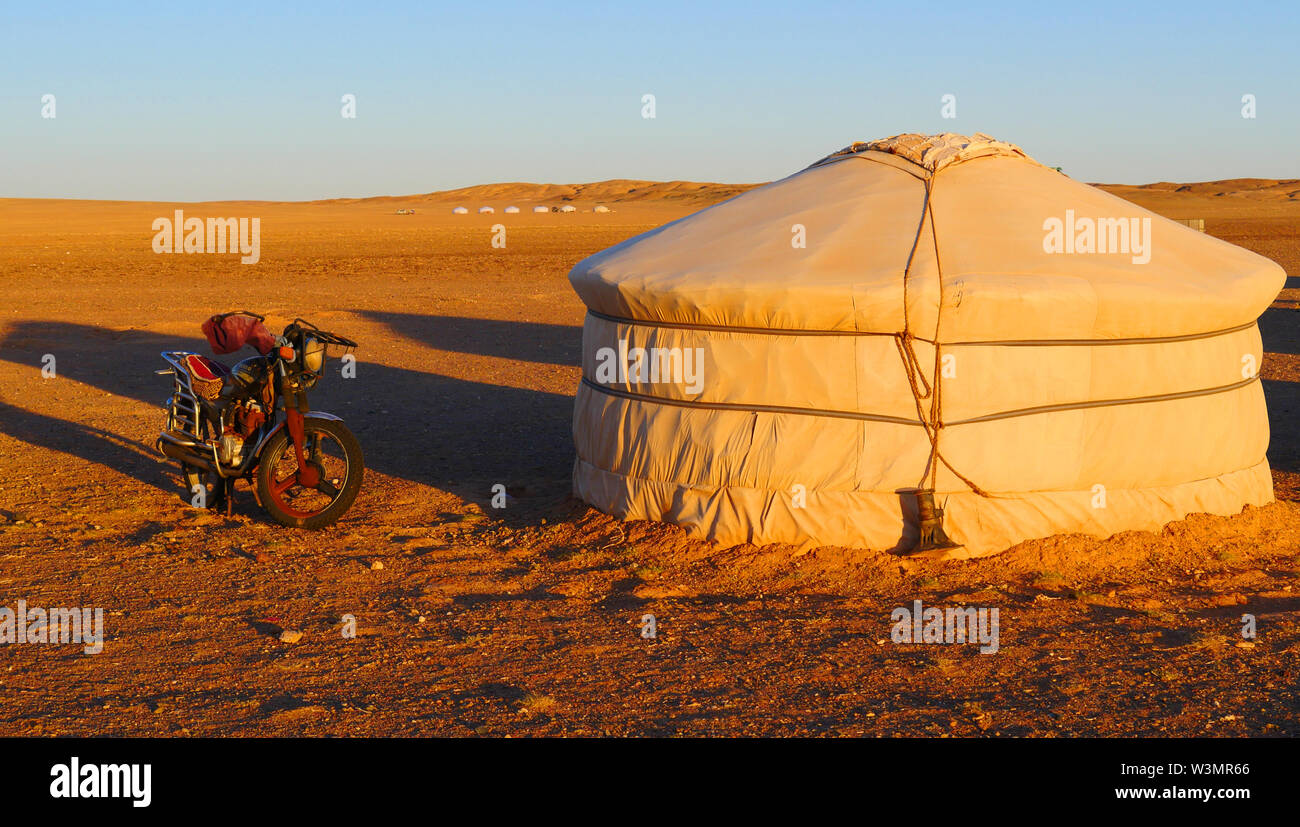
{"label": "cream canvas conical roof of the large foreground yurt", "polygon": [[[1095,242],[1115,246],[1118,221],[1141,231],[1149,220],[1149,259],[1132,244],[1049,252],[1052,218],[1105,221]],[[1283,278],[1269,259],[983,134],[850,144],[569,273],[586,306],[614,319],[945,342],[1221,330],[1253,322]]]}

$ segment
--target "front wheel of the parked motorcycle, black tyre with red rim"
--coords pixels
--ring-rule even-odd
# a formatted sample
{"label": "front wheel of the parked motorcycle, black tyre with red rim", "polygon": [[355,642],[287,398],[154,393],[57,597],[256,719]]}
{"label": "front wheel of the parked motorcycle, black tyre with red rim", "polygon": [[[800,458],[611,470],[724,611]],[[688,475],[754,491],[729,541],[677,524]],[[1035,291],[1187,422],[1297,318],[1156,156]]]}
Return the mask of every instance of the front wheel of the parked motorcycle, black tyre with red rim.
{"label": "front wheel of the parked motorcycle, black tyre with red rim", "polygon": [[361,445],[343,423],[307,419],[303,456],[316,467],[320,482],[298,482],[298,458],[287,429],[281,429],[257,463],[257,499],[281,525],[317,529],[333,525],[361,490],[365,463]]}

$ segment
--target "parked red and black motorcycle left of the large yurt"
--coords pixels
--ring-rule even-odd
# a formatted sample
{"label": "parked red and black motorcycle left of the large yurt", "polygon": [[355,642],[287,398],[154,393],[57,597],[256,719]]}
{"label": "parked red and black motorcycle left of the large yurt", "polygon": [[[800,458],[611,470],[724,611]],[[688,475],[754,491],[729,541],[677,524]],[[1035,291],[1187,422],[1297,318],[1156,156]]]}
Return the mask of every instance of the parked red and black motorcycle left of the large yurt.
{"label": "parked red and black motorcycle left of the large yurt", "polygon": [[356,342],[295,319],[272,334],[250,311],[212,316],[203,324],[216,355],[247,346],[259,355],[233,368],[188,351],[166,351],[172,376],[166,425],[155,447],[181,464],[196,507],[231,514],[235,481],[244,479],[277,523],[317,529],[352,506],[365,466],[361,446],[343,420],[312,411],[307,391],[326,358]]}

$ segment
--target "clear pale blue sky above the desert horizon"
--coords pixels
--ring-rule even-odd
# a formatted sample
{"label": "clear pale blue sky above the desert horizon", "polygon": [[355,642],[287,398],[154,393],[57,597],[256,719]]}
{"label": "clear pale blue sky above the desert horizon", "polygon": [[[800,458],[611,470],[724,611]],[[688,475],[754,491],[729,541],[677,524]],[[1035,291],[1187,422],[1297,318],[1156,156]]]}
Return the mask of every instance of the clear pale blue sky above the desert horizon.
{"label": "clear pale blue sky above the desert horizon", "polygon": [[1300,3],[1152,7],[0,0],[0,196],[754,182],[904,131],[1084,181],[1300,178]]}

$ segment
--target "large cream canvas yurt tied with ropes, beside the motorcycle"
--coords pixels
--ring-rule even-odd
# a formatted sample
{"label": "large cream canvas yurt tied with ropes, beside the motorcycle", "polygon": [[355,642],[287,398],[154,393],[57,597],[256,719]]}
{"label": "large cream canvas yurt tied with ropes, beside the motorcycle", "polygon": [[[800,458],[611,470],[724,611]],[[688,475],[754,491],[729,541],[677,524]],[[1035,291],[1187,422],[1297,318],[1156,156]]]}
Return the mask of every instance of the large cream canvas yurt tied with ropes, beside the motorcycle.
{"label": "large cream canvas yurt tied with ropes, beside the motorcycle", "polygon": [[988,135],[854,143],[578,263],[577,497],[937,558],[1273,499],[1284,273]]}

